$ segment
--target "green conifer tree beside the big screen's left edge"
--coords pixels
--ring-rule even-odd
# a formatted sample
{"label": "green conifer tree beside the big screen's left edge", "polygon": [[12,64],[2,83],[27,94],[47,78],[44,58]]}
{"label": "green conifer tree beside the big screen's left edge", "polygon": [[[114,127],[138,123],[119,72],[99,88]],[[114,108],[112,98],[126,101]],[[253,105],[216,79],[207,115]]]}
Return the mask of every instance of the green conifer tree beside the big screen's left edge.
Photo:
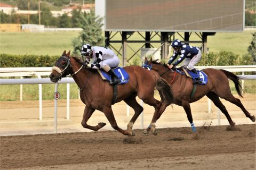
{"label": "green conifer tree beside the big screen's left edge", "polygon": [[90,13],[81,13],[79,21],[82,25],[83,31],[79,36],[73,39],[73,54],[80,53],[82,43],[90,44],[92,46],[104,46],[105,38],[102,35],[102,20],[99,16],[95,16],[95,12],[91,10]]}

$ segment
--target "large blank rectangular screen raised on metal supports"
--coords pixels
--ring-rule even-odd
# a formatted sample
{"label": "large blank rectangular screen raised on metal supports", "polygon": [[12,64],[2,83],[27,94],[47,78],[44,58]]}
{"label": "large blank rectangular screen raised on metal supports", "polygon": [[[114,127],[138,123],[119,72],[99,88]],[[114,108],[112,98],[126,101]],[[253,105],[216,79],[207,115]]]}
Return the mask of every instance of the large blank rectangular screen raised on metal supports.
{"label": "large blank rectangular screen raised on metal supports", "polygon": [[105,0],[105,31],[244,30],[245,0]]}

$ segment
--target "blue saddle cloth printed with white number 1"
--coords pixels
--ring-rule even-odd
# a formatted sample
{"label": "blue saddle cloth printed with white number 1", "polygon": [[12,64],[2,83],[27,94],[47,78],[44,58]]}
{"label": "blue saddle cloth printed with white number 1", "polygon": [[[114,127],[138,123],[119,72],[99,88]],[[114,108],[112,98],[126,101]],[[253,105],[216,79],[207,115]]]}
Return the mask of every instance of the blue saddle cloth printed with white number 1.
{"label": "blue saddle cloth printed with white number 1", "polygon": [[[123,69],[123,67],[117,67],[113,69],[115,74],[117,75],[118,79],[120,80],[118,84],[126,84],[129,82],[129,74]],[[111,76],[106,73],[104,70],[100,69],[102,75],[110,81]]]}

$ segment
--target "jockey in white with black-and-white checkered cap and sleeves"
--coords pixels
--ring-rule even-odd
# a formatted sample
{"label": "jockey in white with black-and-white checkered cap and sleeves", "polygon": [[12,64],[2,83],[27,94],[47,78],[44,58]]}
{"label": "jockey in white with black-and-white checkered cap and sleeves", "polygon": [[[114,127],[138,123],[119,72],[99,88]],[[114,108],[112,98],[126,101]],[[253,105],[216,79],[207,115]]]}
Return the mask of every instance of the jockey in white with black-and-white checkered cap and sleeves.
{"label": "jockey in white with black-and-white checkered cap and sleeves", "polygon": [[[83,63],[85,67],[105,70],[109,75],[111,75],[110,84],[116,84],[119,82],[118,77],[111,69],[118,67],[120,62],[113,50],[107,47],[92,47],[90,44],[85,44],[82,46],[81,55],[86,58]],[[89,62],[91,58],[94,60],[93,63]]]}

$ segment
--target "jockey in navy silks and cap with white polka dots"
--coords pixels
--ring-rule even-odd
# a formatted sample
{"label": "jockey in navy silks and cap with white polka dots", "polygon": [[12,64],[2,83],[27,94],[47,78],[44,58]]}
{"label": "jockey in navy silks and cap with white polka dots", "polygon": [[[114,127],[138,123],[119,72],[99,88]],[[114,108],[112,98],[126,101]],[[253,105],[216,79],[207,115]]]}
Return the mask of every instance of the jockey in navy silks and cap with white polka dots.
{"label": "jockey in navy silks and cap with white polka dots", "polygon": [[[175,39],[174,41],[172,41],[172,48],[174,50],[174,53],[170,58],[169,62],[167,63],[168,67],[170,69],[175,69],[175,66],[180,64],[186,58],[186,60],[183,62],[183,66],[187,67],[190,71],[197,74],[194,65],[201,60],[201,50],[198,47],[181,44],[181,41],[179,39]],[[178,55],[180,55],[180,58],[172,64],[172,62],[177,58]],[[199,82],[201,81],[198,77],[195,79],[194,83],[196,84]]]}

